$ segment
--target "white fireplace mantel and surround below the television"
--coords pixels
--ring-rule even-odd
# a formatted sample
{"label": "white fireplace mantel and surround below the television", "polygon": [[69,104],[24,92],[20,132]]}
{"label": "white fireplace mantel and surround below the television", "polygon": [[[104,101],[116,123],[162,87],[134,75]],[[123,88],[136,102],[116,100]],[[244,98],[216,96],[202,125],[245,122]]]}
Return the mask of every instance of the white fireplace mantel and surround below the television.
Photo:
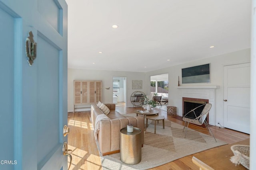
{"label": "white fireplace mantel and surround below the television", "polygon": [[[209,124],[215,125],[215,90],[220,86],[177,86],[179,90],[180,108],[182,108],[182,98],[198,98],[207,99],[212,104],[212,108],[209,113]],[[182,115],[182,109],[179,111],[179,115]]]}

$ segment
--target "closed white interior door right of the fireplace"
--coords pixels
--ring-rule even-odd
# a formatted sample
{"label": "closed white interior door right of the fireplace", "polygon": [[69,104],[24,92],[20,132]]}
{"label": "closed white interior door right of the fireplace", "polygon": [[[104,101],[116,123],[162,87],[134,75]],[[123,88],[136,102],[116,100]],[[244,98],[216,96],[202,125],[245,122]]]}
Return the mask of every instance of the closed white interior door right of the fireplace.
{"label": "closed white interior door right of the fireplace", "polygon": [[250,134],[250,63],[224,66],[224,127]]}

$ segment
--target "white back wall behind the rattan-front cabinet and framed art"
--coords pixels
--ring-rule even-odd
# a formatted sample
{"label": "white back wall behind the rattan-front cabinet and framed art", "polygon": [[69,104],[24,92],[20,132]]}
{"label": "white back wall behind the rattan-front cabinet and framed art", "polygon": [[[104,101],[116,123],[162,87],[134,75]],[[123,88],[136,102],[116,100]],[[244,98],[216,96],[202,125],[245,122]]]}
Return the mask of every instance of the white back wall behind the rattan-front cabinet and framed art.
{"label": "white back wall behind the rattan-front cabinet and framed art", "polygon": [[[109,71],[109,70],[86,70],[86,69],[73,69],[68,68],[68,111],[74,110],[74,80],[101,80],[102,87],[110,87],[110,90],[102,89],[102,102],[113,102],[113,89],[112,80],[113,76],[126,77],[127,96],[126,106],[133,107],[130,102],[130,96],[135,91],[145,92],[147,84],[145,83],[144,72],[122,72],[122,71]],[[142,89],[132,89],[132,80],[142,80]],[[150,82],[149,82],[150,83]],[[78,106],[79,107],[79,106]],[[90,107],[90,105],[83,105],[83,107]],[[85,110],[85,109],[78,109]]]}

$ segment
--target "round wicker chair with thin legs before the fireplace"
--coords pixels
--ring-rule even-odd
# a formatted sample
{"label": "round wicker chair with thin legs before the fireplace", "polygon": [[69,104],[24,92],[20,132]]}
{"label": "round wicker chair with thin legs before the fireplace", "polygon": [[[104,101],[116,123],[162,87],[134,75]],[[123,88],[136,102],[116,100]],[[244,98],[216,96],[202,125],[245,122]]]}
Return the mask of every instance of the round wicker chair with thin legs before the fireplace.
{"label": "round wicker chair with thin legs before the fireplace", "polygon": [[[196,109],[198,109],[199,107],[204,107],[204,109],[202,110],[202,112],[200,113],[200,115],[197,116],[196,113],[195,113],[195,111],[196,111]],[[198,107],[192,109],[191,111],[189,111],[188,113],[186,113],[186,114],[184,115],[184,117],[182,118],[182,120],[185,121],[185,123],[184,123],[184,128],[183,128],[183,131],[184,131],[184,129],[186,129],[186,131],[185,131],[185,137],[186,137],[186,134],[187,134],[187,129],[188,129],[188,124],[189,124],[189,123],[193,123],[193,124],[196,124],[196,125],[202,125],[202,124],[204,124],[204,125],[206,126],[208,132],[210,133],[210,135],[212,135],[212,137],[214,137],[214,135],[213,135],[213,133],[212,133],[212,131],[211,131],[211,129],[210,129],[208,123],[206,122],[206,117],[207,117],[207,115],[208,115],[208,113],[209,113],[211,107],[212,107],[212,104],[209,104],[209,103],[203,104],[203,105],[201,105],[201,106],[198,106]],[[191,114],[191,113],[192,113],[192,115],[194,115],[194,117],[196,117],[196,118],[189,118],[189,117],[188,117],[188,114]],[[215,139],[215,137],[214,137],[214,139]],[[215,139],[215,141],[216,141],[216,139]],[[216,141],[216,142],[217,142],[217,141]]]}

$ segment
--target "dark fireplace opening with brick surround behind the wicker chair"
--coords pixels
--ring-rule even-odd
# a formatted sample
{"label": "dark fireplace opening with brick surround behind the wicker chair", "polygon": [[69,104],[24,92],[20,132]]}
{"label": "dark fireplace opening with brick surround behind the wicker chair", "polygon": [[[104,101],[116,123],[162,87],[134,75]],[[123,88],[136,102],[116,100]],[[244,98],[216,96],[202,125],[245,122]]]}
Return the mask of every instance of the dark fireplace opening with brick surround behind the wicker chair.
{"label": "dark fireplace opening with brick surround behind the wicker chair", "polygon": [[[209,103],[208,99],[198,99],[198,98],[182,98],[182,114],[183,116],[186,115],[189,111],[193,110],[194,108],[201,106],[202,104]],[[199,107],[195,110],[196,116],[199,116],[202,113],[204,107]],[[194,112],[189,113],[186,117],[190,119],[195,119],[196,116]],[[209,124],[209,114],[206,117],[206,122]]]}

